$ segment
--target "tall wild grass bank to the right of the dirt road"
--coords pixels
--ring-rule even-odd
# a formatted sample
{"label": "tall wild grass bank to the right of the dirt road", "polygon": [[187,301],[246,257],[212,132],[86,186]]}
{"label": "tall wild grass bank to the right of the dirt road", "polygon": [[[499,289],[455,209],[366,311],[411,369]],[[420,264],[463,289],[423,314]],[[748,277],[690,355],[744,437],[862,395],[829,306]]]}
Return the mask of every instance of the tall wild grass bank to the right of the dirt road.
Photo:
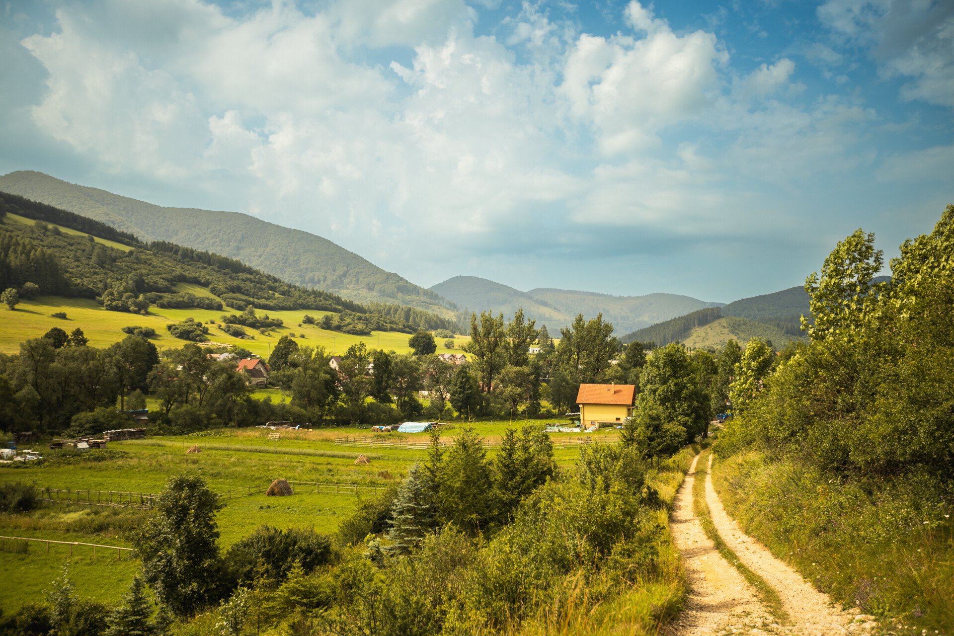
{"label": "tall wild grass bank to the right of the dirt road", "polygon": [[842,604],[897,619],[898,633],[954,633],[949,489],[918,475],[832,478],[757,451],[716,462],[713,478],[746,532]]}

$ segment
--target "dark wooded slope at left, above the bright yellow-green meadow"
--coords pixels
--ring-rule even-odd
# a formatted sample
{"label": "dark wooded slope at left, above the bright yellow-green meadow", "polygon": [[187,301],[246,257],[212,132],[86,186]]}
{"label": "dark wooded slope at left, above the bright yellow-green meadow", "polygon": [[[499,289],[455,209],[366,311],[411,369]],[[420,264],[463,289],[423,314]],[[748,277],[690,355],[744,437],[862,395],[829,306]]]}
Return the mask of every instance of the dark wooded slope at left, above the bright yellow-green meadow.
{"label": "dark wooded slope at left, above the bright yellow-green meadow", "polygon": [[[182,284],[203,291],[183,292]],[[0,289],[10,287],[32,289],[34,295],[94,298],[106,309],[131,313],[144,313],[152,305],[328,311],[338,314],[333,328],[345,333],[453,326],[446,318],[421,310],[408,314],[396,305],[376,306],[372,312],[334,294],[263,274],[234,258],[169,241],[147,244],[99,221],[0,193]]]}

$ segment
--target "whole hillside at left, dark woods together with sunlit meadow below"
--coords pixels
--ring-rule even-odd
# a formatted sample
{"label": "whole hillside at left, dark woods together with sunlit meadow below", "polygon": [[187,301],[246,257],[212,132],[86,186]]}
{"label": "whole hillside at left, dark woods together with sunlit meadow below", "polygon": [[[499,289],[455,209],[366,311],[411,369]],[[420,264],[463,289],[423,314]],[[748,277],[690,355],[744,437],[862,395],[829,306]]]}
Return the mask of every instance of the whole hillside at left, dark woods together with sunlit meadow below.
{"label": "whole hillside at left, dark woods together with sunlit meadow below", "polygon": [[[70,324],[77,318],[70,312],[65,324],[46,324],[51,319],[63,322],[49,316],[65,311],[58,308],[63,306],[87,313],[98,308],[101,315],[84,315],[85,321],[93,332],[106,329],[114,339],[122,337],[118,330],[124,326],[152,327],[158,334],[155,338],[161,339],[167,323],[185,318],[217,323],[205,326],[204,338],[195,339],[219,337],[218,341],[228,344],[239,342],[239,337],[243,343],[256,340],[258,344],[259,338],[314,321],[321,324],[321,331],[342,337],[401,332],[406,339],[406,334],[421,327],[452,326],[446,318],[396,305],[380,305],[371,311],[333,294],[288,284],[232,258],[165,241],[147,245],[99,221],[0,193],[0,289],[10,287],[20,289],[27,301],[5,316],[0,346],[7,349],[15,349],[22,339],[42,336],[52,326],[78,326],[85,331],[84,325]],[[29,299],[35,296],[47,297],[36,300],[39,306],[55,308],[28,309]],[[242,315],[245,310],[253,312],[253,307],[259,310],[258,316]],[[262,310],[273,315],[263,315]],[[281,318],[278,312],[288,315]],[[305,314],[314,320],[306,320]],[[45,320],[37,322],[31,315]],[[156,319],[158,323],[150,324]],[[40,323],[45,327],[33,333]],[[301,330],[300,335],[306,333],[304,326]],[[221,338],[225,332],[234,338]],[[336,338],[331,336],[332,342]],[[406,346],[399,340],[395,343]]]}

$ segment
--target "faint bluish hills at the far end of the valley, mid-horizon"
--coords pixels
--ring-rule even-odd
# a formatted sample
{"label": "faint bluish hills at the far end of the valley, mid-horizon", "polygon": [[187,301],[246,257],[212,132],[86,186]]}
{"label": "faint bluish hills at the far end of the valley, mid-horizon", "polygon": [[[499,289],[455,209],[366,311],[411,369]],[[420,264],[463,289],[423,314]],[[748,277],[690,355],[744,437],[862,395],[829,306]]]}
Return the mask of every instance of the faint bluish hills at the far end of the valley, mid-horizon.
{"label": "faint bluish hills at the far end of the valley, mid-horizon", "polygon": [[[459,307],[472,311],[492,309],[512,315],[519,307],[537,324],[551,330],[572,322],[577,314],[592,318],[602,313],[617,334],[644,327],[692,312],[703,307],[719,306],[688,296],[649,294],[647,296],[610,296],[594,292],[565,289],[518,289],[479,277],[453,277],[430,288]],[[556,331],[551,331],[555,334]]]}

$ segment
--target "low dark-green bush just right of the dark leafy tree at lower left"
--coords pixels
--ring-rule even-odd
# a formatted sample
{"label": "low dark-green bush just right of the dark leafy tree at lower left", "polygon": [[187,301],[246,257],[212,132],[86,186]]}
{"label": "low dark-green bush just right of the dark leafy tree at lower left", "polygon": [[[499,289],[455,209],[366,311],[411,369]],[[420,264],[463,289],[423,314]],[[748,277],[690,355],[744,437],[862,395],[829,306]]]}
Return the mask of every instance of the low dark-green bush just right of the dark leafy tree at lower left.
{"label": "low dark-green bush just right of the dark leafy tree at lower left", "polygon": [[295,564],[301,565],[307,573],[330,563],[332,557],[331,540],[314,530],[280,530],[260,525],[229,548],[225,566],[239,584],[251,583],[263,576],[283,581]]}

